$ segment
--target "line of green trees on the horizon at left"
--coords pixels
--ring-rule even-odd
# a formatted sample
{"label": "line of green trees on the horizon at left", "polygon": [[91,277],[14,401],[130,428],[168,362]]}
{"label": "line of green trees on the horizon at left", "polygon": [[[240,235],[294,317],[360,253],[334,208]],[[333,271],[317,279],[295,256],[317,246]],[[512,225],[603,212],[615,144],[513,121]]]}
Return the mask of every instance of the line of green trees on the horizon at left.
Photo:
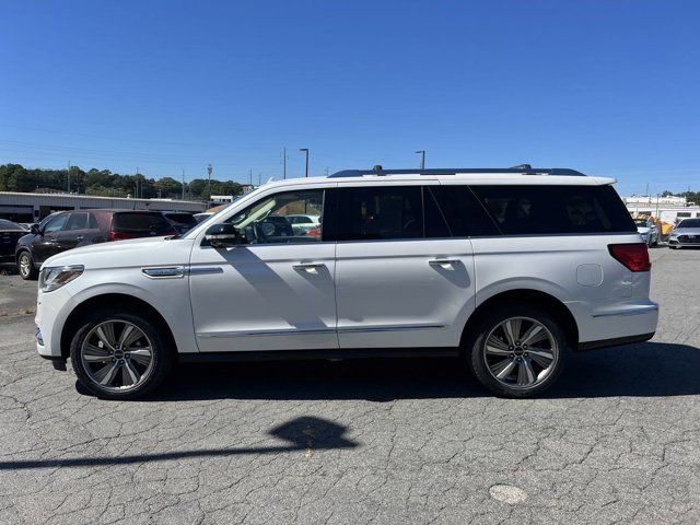
{"label": "line of green trees on the horizon at left", "polygon": [[[0,191],[67,191],[68,170],[25,168],[21,164],[0,165]],[[173,177],[148,178],[141,174],[120,175],[109,170],[83,171],[70,166],[70,191],[102,197],[136,197],[144,199],[180,199],[183,184]],[[242,186],[233,180],[211,179],[211,194],[206,178],[185,184],[185,198],[209,200],[210,195],[240,195]]]}

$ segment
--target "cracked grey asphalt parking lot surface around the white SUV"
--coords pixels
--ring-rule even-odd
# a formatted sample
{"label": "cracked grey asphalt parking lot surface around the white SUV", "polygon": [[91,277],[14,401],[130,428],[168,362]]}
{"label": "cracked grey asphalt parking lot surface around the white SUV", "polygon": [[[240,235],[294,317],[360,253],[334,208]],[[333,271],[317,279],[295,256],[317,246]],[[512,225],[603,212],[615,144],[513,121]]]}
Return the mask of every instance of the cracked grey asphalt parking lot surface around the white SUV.
{"label": "cracked grey asphalt parking lot surface around the white SUV", "polygon": [[533,400],[400,360],[197,365],[103,401],[35,355],[36,283],[0,277],[0,523],[698,523],[700,250],[652,260],[654,339]]}

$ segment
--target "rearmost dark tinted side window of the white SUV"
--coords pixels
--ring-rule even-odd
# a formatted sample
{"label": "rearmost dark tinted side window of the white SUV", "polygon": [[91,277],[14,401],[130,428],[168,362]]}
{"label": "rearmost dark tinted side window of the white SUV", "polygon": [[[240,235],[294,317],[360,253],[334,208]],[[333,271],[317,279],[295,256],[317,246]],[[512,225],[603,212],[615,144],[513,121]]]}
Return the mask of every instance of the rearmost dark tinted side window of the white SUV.
{"label": "rearmost dark tinted side window of the white SUV", "polygon": [[611,186],[472,186],[505,235],[637,232]]}

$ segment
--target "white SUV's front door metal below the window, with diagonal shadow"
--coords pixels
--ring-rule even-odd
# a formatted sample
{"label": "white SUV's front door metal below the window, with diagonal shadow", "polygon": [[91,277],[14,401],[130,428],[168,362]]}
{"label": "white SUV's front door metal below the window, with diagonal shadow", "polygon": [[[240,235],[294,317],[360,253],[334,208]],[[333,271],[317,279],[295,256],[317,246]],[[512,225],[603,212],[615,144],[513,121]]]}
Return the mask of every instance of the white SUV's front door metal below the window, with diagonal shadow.
{"label": "white SUV's front door metal below the window, with diagonal shadow", "polygon": [[202,352],[338,347],[332,243],[196,246],[190,291]]}

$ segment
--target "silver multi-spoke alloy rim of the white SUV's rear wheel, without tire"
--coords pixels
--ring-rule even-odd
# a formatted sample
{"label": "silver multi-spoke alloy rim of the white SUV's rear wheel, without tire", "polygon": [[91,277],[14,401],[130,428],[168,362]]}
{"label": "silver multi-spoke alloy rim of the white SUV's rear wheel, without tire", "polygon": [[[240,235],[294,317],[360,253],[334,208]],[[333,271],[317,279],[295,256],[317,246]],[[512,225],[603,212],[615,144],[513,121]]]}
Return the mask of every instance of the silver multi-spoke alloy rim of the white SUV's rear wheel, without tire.
{"label": "silver multi-spoke alloy rim of the white SUV's rear wheel, without tire", "polygon": [[542,383],[559,361],[559,345],[545,325],[529,317],[510,317],[486,338],[483,359],[495,381],[515,389]]}

